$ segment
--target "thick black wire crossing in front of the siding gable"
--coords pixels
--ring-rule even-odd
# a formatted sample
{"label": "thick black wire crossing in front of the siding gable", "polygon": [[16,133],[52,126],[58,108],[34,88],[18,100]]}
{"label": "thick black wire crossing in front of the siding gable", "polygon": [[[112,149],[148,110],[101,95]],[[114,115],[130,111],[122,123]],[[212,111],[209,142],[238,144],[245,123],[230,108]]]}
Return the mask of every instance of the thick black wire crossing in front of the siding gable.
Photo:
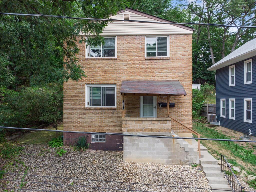
{"label": "thick black wire crossing in front of the siding gable", "polygon": [[240,27],[240,28],[256,28],[256,26],[244,26],[244,25],[222,25],[212,23],[168,23],[168,22],[154,22],[154,21],[140,21],[140,20],[124,20],[124,19],[97,19],[97,18],[84,18],[84,17],[68,17],[59,15],[42,15],[42,14],[22,14],[22,13],[0,13],[1,15],[19,15],[19,16],[39,16],[39,17],[57,17],[64,19],[80,19],[80,20],[94,20],[94,21],[129,21],[135,23],[156,23],[156,24],[168,24],[168,25],[209,25],[218,27]]}

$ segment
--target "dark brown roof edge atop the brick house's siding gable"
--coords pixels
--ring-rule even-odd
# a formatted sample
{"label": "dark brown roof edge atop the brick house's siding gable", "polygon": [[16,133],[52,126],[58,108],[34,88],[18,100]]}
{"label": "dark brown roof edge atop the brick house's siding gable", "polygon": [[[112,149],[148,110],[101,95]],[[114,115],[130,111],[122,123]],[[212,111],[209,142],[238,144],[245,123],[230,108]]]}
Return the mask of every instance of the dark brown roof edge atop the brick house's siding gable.
{"label": "dark brown roof edge atop the brick house's siding gable", "polygon": [[138,15],[141,15],[141,16],[144,16],[144,17],[148,17],[148,18],[151,18],[151,19],[160,21],[160,22],[173,23],[174,26],[181,27],[181,28],[183,28],[183,29],[187,29],[187,30],[190,30],[190,31],[194,31],[194,30],[195,30],[195,29],[193,29],[192,27],[188,27],[188,26],[180,25],[180,24],[175,24],[175,22],[172,22],[172,21],[169,21],[169,20],[166,20],[166,19],[162,19],[162,18],[160,18],[160,17],[156,17],[156,16],[153,16],[153,15],[150,15],[150,14],[147,14],[147,13],[144,13],[144,12],[141,12],[141,11],[138,11],[138,10],[135,10],[135,9],[131,9],[131,8],[128,8],[128,7],[126,7],[125,9],[122,9],[122,10],[118,11],[116,14],[123,13],[123,12],[125,12],[125,11],[129,11],[129,12],[132,12],[132,13],[135,13],[135,14],[138,14]]}

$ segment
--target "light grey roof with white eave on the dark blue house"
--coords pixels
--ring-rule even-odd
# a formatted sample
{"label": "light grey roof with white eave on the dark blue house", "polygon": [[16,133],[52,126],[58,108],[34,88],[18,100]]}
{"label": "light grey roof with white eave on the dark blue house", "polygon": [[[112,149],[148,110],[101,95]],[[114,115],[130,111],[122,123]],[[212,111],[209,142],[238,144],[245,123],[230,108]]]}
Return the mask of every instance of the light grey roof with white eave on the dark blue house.
{"label": "light grey roof with white eave on the dark blue house", "polygon": [[246,42],[230,54],[228,54],[223,59],[219,60],[217,63],[209,67],[207,70],[214,71],[222,67],[226,67],[238,61],[242,61],[249,57],[256,55],[256,38]]}

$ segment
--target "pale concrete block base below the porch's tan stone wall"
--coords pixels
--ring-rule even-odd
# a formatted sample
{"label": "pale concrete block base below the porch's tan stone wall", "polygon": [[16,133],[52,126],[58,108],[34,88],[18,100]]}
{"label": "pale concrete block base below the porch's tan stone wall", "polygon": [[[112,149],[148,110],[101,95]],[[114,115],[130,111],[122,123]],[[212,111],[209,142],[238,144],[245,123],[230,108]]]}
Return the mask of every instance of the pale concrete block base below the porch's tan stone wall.
{"label": "pale concrete block base below the porch's tan stone wall", "polygon": [[[174,132],[123,132],[132,135],[177,136]],[[123,160],[141,163],[190,164],[199,163],[199,152],[183,139],[124,136]]]}

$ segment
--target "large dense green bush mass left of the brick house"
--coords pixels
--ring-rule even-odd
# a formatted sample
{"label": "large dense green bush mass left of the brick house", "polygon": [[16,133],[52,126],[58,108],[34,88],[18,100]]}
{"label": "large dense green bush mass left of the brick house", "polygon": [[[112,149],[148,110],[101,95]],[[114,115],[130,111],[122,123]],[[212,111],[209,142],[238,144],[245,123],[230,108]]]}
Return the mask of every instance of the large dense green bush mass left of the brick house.
{"label": "large dense green bush mass left of the brick house", "polygon": [[17,92],[1,87],[1,126],[31,127],[63,120],[62,86],[28,87]]}

